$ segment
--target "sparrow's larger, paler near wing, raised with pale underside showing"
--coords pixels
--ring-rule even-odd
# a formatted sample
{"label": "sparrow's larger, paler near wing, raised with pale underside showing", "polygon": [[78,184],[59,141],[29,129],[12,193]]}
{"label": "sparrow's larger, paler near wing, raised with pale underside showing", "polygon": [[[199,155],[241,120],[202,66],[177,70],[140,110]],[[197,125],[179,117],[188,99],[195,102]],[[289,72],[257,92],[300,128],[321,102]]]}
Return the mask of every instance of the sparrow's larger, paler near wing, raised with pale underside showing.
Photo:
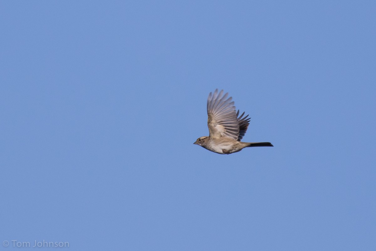
{"label": "sparrow's larger, paler near wing, raised with pale underside showing", "polygon": [[210,93],[208,97],[208,127],[211,138],[222,136],[238,140],[239,121],[235,112],[232,97],[227,98],[228,93],[224,94],[223,90],[215,90],[214,94]]}

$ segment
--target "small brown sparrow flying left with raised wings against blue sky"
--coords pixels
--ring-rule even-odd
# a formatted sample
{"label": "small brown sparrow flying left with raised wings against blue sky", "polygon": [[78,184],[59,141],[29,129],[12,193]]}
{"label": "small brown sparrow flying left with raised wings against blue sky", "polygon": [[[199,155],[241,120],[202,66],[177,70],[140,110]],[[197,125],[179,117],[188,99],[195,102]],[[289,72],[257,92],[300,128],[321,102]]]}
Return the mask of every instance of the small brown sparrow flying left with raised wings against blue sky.
{"label": "small brown sparrow flying left with raised wings against blue sky", "polygon": [[[193,144],[219,154],[231,154],[245,147],[273,147],[270,142],[241,142],[247,132],[250,118],[239,116],[228,92],[210,92],[207,103],[209,136],[200,137]],[[244,116],[244,117],[243,117]]]}

